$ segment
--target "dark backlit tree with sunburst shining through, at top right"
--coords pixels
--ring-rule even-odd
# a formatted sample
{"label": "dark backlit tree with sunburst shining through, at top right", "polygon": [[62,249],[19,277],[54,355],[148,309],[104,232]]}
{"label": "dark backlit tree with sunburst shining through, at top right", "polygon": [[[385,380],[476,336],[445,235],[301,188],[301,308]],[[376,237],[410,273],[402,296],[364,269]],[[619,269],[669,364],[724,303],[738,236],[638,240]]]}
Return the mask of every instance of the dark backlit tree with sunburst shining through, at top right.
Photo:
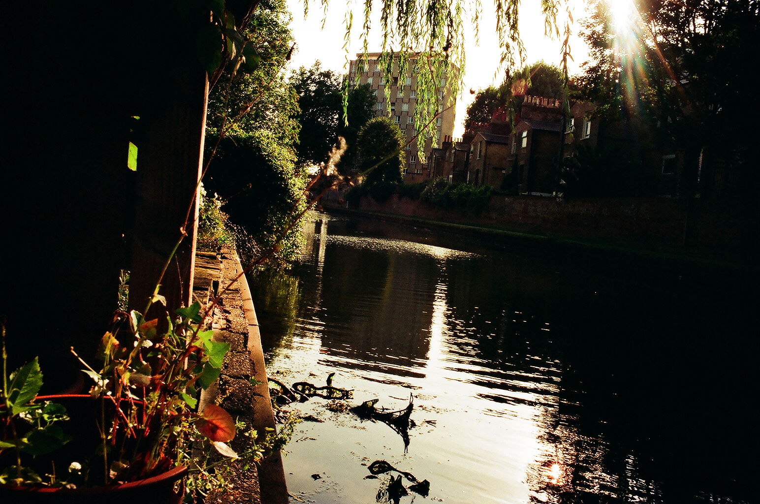
{"label": "dark backlit tree with sunburst shining through, at top right", "polygon": [[756,172],[750,153],[757,152],[752,122],[760,97],[746,55],[760,40],[758,2],[633,3],[638,14],[625,27],[600,0],[584,23],[591,58],[579,84],[587,100],[600,103],[597,116],[637,121],[682,150],[683,195],[693,195],[698,170],[704,181],[713,163]]}

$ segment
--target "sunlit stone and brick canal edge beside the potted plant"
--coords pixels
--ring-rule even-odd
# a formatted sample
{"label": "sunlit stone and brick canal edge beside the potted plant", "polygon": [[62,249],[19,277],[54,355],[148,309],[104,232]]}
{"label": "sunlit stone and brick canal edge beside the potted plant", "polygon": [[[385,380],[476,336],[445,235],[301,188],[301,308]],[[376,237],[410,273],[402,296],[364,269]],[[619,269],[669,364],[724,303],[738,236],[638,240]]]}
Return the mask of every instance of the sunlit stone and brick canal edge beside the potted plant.
{"label": "sunlit stone and brick canal edge beside the potted plant", "polygon": [[[216,401],[238,421],[254,428],[259,440],[275,428],[267,370],[261,350],[261,334],[242,265],[234,249],[197,252],[193,294],[204,305],[218,296],[212,328],[214,338],[230,343],[217,384],[201,397],[201,404]],[[237,436],[230,443],[238,453],[251,449],[250,439]],[[246,464],[247,465],[247,464]],[[259,465],[233,466],[232,490],[207,502],[245,504],[287,504],[287,485],[280,453]]]}

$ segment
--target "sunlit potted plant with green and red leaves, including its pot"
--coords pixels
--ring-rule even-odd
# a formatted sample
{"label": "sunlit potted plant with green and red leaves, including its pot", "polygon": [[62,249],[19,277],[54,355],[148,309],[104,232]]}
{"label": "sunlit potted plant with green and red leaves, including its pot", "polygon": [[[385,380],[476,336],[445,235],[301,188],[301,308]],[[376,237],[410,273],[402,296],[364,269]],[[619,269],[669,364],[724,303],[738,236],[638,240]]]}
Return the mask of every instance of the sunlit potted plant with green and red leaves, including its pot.
{"label": "sunlit potted plant with green and red leaves, including its pot", "polygon": [[[203,329],[199,303],[163,327],[119,312],[101,338],[100,369],[80,359],[90,393],[44,397],[36,359],[8,374],[3,331],[0,501],[180,502],[223,486],[219,469],[239,458],[226,444],[236,423],[216,404],[198,405],[230,345]],[[262,456],[262,445],[241,454]]]}

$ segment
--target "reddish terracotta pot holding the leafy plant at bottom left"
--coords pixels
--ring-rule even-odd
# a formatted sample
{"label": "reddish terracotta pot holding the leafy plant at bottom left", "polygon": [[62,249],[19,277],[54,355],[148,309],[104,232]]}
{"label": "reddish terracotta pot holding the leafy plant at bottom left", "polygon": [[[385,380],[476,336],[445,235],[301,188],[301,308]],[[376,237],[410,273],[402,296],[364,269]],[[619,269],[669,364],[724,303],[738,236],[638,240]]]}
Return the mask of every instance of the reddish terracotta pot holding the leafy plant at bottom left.
{"label": "reddish terracotta pot holding the leafy plant at bottom left", "polygon": [[[49,400],[65,404],[71,420],[62,425],[73,440],[60,449],[62,455],[52,456],[58,461],[55,467],[68,466],[71,457],[81,460],[84,454],[91,454],[93,447],[100,442],[95,418],[99,414],[97,401],[90,395],[45,395],[37,400]],[[184,482],[188,469],[184,466],[173,468],[163,474],[157,474],[144,480],[131,481],[121,485],[106,485],[92,488],[49,488],[49,487],[11,487],[0,485],[0,502],[8,504],[179,504],[182,502]],[[176,488],[176,491],[175,491]]]}

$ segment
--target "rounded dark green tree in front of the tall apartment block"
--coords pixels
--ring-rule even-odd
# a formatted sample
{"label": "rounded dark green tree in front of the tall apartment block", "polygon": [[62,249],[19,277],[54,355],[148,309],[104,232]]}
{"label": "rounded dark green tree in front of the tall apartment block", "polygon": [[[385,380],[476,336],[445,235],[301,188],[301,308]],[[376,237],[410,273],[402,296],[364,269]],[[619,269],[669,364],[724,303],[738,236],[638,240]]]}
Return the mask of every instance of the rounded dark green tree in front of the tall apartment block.
{"label": "rounded dark green tree in front of the tall apartment block", "polygon": [[406,160],[404,133],[388,117],[370,119],[359,132],[359,172],[368,186],[401,182]]}

